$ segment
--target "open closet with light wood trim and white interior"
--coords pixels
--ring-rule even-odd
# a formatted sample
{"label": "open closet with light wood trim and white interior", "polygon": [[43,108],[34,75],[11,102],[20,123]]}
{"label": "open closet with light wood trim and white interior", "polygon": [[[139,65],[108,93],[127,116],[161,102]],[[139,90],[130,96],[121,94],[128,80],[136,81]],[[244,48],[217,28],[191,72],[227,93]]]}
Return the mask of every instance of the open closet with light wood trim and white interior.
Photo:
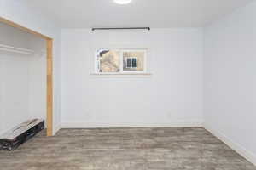
{"label": "open closet with light wood trim and white interior", "polygon": [[[0,113],[6,122],[0,133],[14,127],[8,115],[15,114],[16,124],[26,117],[44,118],[47,136],[52,136],[53,38],[2,17],[0,29]],[[22,116],[26,111],[28,115]]]}

